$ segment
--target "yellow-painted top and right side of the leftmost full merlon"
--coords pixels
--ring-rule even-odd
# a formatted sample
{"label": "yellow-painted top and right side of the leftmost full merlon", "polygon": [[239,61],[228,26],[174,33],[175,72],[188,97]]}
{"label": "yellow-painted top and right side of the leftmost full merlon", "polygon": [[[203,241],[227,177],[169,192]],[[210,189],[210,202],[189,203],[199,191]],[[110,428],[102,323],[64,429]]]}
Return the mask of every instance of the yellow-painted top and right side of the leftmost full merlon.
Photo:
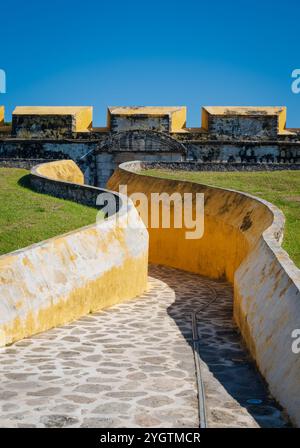
{"label": "yellow-painted top and right side of the leftmost full merlon", "polygon": [[72,116],[75,132],[87,132],[93,124],[93,107],[91,106],[18,106],[13,111],[14,115]]}

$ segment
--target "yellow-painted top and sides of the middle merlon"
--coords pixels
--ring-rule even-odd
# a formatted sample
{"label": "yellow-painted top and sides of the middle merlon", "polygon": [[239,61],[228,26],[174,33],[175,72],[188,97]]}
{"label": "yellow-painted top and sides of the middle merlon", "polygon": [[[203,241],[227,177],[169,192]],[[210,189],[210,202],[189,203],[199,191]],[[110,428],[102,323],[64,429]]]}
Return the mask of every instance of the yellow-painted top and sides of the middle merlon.
{"label": "yellow-painted top and sides of the middle merlon", "polygon": [[170,121],[170,132],[180,132],[186,127],[185,106],[128,106],[109,107],[107,110],[107,126],[110,128],[111,117],[164,117],[168,116]]}

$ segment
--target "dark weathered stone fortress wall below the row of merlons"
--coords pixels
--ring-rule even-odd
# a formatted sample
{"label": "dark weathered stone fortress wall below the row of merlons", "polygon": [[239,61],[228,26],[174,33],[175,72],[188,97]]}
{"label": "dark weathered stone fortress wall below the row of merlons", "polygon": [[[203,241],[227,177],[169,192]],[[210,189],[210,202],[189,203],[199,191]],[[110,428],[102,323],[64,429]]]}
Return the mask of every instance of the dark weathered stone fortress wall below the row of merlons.
{"label": "dark weathered stone fortress wall below the row of merlons", "polygon": [[[140,131],[137,131],[140,132]],[[148,137],[147,137],[147,135]],[[118,140],[111,141],[107,134],[93,140],[0,140],[0,165],[32,167],[39,161],[73,159],[82,169],[85,182],[105,186],[118,164],[130,160],[149,162],[203,163],[203,169],[252,170],[298,169],[300,145],[228,145],[216,143],[190,143],[177,141],[169,136],[149,138],[151,132],[142,132],[140,138],[132,138],[125,132]],[[118,134],[119,135],[119,134]],[[169,140],[166,139],[168,137]],[[153,141],[155,140],[155,141]],[[174,144],[171,145],[170,141]],[[177,145],[177,146],[176,146]],[[28,162],[26,162],[26,160]],[[227,168],[226,168],[227,167]],[[200,169],[200,167],[199,167]]]}

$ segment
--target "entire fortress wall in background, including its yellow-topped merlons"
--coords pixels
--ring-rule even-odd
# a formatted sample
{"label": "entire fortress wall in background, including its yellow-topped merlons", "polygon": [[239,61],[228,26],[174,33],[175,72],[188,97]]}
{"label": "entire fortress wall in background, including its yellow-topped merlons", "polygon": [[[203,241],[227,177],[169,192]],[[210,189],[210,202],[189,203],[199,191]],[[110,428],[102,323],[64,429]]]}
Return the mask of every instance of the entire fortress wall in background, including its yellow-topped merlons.
{"label": "entire fortress wall in background, including its yellow-topped merlons", "polygon": [[68,158],[95,186],[105,186],[130,160],[194,161],[228,170],[300,167],[300,129],[286,127],[285,107],[203,107],[199,128],[186,126],[181,106],[110,107],[103,128],[93,127],[92,113],[92,107],[17,107],[5,126],[0,106],[0,164]]}

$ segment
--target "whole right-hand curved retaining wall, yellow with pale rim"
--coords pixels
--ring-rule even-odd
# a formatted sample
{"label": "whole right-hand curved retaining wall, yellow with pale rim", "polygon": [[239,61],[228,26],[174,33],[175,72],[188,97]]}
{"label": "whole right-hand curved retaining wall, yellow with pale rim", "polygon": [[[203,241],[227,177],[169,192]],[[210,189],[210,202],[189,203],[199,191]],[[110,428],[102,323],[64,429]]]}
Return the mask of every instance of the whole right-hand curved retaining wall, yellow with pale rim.
{"label": "whole right-hand curved retaining wall, yellow with pale rim", "polygon": [[151,262],[234,285],[234,318],[272,394],[300,426],[300,355],[291,333],[300,328],[300,270],[281,248],[284,216],[274,205],[232,190],[147,177],[147,163],[119,166],[108,182],[128,194],[204,193],[205,228],[198,240],[187,229],[149,228]]}

